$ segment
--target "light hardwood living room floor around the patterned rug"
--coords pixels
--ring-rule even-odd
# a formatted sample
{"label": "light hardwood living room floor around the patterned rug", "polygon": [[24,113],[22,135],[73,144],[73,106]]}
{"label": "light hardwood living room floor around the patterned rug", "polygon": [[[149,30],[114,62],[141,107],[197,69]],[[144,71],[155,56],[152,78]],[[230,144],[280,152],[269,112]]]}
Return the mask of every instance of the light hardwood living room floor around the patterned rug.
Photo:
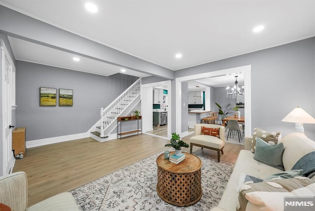
{"label": "light hardwood living room floor around the patterned rug", "polygon": [[[191,136],[183,140],[189,142]],[[27,149],[24,159],[16,160],[13,172],[28,175],[28,206],[32,206],[162,151],[168,142],[143,134],[103,143],[86,138],[38,146]],[[235,162],[242,147],[227,143],[221,160]],[[193,151],[217,157],[216,151],[200,147]]]}

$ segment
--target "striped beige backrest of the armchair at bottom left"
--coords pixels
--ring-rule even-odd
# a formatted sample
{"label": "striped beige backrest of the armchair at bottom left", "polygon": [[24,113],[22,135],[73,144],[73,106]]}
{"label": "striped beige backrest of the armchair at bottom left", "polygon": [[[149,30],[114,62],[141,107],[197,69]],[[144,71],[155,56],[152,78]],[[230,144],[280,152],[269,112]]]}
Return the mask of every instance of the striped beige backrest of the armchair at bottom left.
{"label": "striped beige backrest of the armchair at bottom left", "polygon": [[0,176],[0,203],[12,211],[25,211],[28,204],[28,180],[24,172]]}

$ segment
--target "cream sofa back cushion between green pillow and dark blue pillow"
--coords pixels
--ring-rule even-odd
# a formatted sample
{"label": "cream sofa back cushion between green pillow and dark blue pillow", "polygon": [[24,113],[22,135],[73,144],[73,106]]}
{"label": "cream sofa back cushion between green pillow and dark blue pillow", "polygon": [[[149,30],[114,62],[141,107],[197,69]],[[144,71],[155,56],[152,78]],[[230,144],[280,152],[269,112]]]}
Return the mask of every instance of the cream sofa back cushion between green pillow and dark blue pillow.
{"label": "cream sofa back cushion between green pillow and dark blue pillow", "polygon": [[302,133],[289,133],[284,136],[282,142],[284,144],[282,159],[286,171],[291,170],[304,155],[315,151],[315,141],[308,139]]}

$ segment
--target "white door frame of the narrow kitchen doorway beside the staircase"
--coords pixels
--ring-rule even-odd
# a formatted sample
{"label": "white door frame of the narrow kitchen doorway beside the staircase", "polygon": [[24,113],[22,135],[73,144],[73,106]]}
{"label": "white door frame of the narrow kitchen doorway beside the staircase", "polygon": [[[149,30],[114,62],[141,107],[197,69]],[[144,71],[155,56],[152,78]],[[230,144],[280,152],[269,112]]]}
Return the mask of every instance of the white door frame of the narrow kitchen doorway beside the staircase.
{"label": "white door frame of the narrow kitchen doorway beside the staircase", "polygon": [[[167,86],[167,139],[171,139],[171,126],[172,126],[172,115],[171,115],[171,111],[172,111],[172,103],[171,103],[171,99],[172,99],[172,90],[171,90],[171,80],[166,80],[166,81],[160,81],[160,82],[155,82],[155,83],[148,83],[148,84],[142,84],[141,85],[141,96],[142,98],[145,98],[147,96],[143,96],[143,89],[146,88],[153,88],[156,86]],[[150,93],[148,93],[150,94]],[[151,92],[151,97],[150,99],[153,99],[153,92]],[[146,101],[147,102],[147,101]],[[152,104],[153,104],[153,100],[151,102],[147,102],[147,103],[141,103],[141,111],[142,113],[151,113],[152,114]],[[143,124],[150,124],[153,125],[153,118],[150,118],[148,115],[143,115],[142,116],[142,121]],[[144,131],[147,132],[147,131]],[[148,135],[151,135],[148,133]]]}

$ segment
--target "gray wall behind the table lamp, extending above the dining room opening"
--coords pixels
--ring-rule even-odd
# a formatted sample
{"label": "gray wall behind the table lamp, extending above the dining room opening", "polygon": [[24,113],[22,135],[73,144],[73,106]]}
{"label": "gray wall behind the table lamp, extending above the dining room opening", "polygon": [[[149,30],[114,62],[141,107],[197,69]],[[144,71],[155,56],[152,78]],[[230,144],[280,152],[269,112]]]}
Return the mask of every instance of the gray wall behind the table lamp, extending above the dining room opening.
{"label": "gray wall behind the table lamp, extending above the dining room opening", "polygon": [[[175,77],[245,65],[252,65],[252,129],[294,132],[294,123],[281,120],[296,106],[315,116],[315,37],[177,70]],[[315,125],[304,129],[315,140]]]}

